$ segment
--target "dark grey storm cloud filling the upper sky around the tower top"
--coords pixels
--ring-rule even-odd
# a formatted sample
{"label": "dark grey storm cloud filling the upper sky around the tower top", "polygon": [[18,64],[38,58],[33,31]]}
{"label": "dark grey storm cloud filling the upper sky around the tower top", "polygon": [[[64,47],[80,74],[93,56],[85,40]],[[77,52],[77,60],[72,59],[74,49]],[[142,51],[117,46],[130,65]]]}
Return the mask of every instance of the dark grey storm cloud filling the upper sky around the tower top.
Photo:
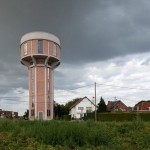
{"label": "dark grey storm cloud filling the upper sky around the tower top", "polygon": [[[0,0],[0,92],[28,88],[27,68],[20,64],[23,34],[55,34],[62,64],[83,65],[148,52],[149,14],[148,0]],[[73,82],[62,81],[59,72],[56,76],[62,88]]]}

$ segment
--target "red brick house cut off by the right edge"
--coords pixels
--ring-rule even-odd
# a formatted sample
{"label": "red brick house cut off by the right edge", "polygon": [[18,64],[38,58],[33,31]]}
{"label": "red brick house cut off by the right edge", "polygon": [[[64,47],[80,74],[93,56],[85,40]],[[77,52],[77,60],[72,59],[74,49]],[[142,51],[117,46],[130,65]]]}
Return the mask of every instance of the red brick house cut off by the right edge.
{"label": "red brick house cut off by the right edge", "polygon": [[150,100],[149,101],[140,101],[139,103],[137,103],[134,106],[133,111],[150,112]]}

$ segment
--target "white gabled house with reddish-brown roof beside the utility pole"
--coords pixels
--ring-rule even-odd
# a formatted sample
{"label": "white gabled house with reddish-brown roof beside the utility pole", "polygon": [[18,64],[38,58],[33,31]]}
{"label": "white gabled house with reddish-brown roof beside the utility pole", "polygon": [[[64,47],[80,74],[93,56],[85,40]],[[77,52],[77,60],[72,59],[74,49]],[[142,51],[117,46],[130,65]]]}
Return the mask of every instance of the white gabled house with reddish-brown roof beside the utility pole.
{"label": "white gabled house with reddish-brown roof beside the utility pole", "polygon": [[93,112],[95,110],[95,104],[87,97],[79,98],[70,107],[69,114],[71,118],[81,119],[87,112]]}

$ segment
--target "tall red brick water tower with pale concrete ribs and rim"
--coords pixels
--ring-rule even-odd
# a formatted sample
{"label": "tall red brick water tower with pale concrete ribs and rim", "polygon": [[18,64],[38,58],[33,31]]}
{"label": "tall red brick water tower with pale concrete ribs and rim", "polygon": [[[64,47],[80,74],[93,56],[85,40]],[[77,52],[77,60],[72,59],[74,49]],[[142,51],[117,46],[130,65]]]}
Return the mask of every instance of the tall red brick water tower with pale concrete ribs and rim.
{"label": "tall red brick water tower with pale concrete ribs and rim", "polygon": [[47,32],[22,36],[21,63],[29,70],[29,119],[53,119],[53,70],[60,64],[60,41]]}

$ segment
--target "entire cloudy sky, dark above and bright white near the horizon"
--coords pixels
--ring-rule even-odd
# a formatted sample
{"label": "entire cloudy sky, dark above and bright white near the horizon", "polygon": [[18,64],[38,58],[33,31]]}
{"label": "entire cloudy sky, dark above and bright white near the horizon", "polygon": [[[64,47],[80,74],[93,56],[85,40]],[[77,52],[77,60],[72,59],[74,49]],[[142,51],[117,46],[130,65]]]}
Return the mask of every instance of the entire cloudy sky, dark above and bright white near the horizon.
{"label": "entire cloudy sky, dark above and bright white near the horizon", "polygon": [[0,0],[0,108],[28,109],[20,39],[32,31],[60,38],[56,102],[92,99],[94,82],[98,102],[116,96],[134,106],[150,99],[149,14],[149,0]]}

